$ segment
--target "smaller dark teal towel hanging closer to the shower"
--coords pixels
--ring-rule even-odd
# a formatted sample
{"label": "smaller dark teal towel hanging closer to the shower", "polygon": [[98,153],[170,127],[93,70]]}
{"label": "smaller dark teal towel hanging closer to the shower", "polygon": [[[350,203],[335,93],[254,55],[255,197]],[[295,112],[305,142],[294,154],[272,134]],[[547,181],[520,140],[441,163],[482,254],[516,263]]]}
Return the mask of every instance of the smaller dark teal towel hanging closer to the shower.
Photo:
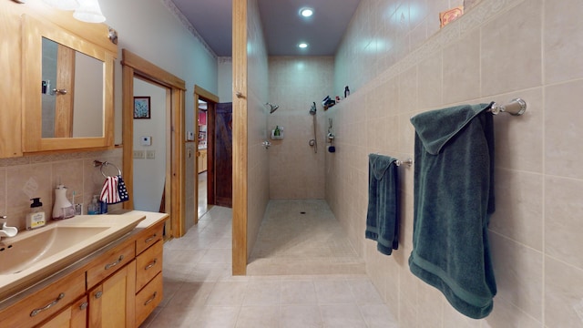
{"label": "smaller dark teal towel hanging closer to the shower", "polygon": [[368,162],[367,239],[376,241],[376,249],[391,255],[399,248],[399,201],[397,198],[396,159],[370,154]]}

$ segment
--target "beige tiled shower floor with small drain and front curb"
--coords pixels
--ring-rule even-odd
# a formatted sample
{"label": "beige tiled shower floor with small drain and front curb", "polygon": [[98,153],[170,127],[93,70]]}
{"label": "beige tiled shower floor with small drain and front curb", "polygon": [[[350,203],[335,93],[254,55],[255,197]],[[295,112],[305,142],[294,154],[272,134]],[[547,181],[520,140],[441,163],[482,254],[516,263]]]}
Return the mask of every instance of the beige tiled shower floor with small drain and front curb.
{"label": "beige tiled shower floor with small drain and front curb", "polygon": [[363,274],[364,261],[325,200],[271,200],[248,275]]}

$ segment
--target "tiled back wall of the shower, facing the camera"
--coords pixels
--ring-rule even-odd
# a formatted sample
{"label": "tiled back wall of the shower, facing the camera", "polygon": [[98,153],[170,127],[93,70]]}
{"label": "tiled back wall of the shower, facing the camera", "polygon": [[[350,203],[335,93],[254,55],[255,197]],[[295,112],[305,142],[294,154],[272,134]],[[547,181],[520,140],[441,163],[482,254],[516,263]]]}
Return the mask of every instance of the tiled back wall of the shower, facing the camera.
{"label": "tiled back wall of the shower, facing the camera", "polygon": [[[324,198],[324,154],[326,153],[322,99],[333,97],[332,56],[271,56],[269,58],[269,102],[280,108],[269,116],[268,130],[284,128],[282,140],[271,140],[270,198],[302,200]],[[317,153],[312,102],[316,103]]]}

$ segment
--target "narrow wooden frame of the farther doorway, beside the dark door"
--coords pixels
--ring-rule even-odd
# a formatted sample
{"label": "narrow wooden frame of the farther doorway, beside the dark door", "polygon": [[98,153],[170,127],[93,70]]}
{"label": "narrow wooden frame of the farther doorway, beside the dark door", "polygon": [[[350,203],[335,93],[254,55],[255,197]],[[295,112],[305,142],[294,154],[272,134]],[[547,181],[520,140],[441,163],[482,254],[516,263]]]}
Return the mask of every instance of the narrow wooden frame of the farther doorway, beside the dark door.
{"label": "narrow wooden frame of the farther doorway, beside the dark door", "polygon": [[[195,136],[199,135],[199,99],[207,102],[207,206],[214,205],[215,203],[215,169],[214,169],[214,124],[215,124],[215,105],[219,103],[219,97],[212,94],[210,91],[194,85],[194,127],[196,128]],[[199,150],[199,138],[196,138],[197,154]],[[194,200],[195,200],[195,216],[194,224],[199,223],[199,160],[195,160],[195,186],[194,190]]]}

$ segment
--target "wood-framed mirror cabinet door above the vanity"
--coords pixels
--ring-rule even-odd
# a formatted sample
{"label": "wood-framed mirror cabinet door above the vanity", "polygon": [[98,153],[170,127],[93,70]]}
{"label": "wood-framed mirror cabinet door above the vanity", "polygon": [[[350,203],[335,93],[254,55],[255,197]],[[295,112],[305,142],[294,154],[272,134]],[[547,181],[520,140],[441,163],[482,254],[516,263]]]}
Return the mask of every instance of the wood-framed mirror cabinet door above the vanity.
{"label": "wood-framed mirror cabinet door above the vanity", "polygon": [[117,54],[52,23],[22,19],[24,152],[113,147]]}

